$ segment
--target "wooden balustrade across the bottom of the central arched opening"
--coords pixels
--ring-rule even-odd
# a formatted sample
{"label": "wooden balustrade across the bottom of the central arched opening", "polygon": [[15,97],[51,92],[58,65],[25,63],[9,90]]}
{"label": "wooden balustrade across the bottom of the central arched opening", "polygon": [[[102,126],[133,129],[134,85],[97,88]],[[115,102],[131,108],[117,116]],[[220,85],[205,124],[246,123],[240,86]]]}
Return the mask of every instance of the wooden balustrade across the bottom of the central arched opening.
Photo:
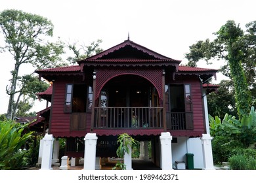
{"label": "wooden balustrade across the bottom of the central arched opening", "polygon": [[95,107],[95,128],[162,128],[162,107]]}

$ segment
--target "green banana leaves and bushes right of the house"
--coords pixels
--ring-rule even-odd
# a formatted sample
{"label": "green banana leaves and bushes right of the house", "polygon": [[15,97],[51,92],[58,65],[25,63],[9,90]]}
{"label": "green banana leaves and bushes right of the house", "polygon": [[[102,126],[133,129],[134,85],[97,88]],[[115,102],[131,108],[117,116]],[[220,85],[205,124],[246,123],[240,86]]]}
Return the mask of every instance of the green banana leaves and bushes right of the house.
{"label": "green banana leaves and bushes right of the house", "polygon": [[[212,141],[213,146],[213,160],[215,163],[228,161],[232,156],[234,159],[234,167],[237,169],[244,169],[247,164],[253,169],[255,160],[250,159],[250,163],[240,165],[242,158],[249,159],[256,157],[256,111],[251,107],[251,112],[248,116],[243,116],[242,120],[236,120],[234,116],[226,114],[221,120],[218,116],[213,118],[209,115],[210,133],[214,137]],[[241,158],[241,156],[243,156]],[[247,161],[246,161],[247,162]],[[244,167],[242,167],[244,166]],[[234,169],[236,169],[234,168]]]}

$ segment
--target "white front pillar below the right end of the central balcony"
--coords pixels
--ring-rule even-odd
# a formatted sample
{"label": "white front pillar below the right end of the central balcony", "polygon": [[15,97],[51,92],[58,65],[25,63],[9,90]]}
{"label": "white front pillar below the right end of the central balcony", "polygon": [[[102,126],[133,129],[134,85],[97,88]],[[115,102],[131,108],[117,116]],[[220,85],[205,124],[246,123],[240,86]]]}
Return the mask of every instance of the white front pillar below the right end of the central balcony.
{"label": "white front pillar below the right end of the central balcony", "polygon": [[172,170],[173,161],[171,154],[171,140],[173,137],[169,132],[163,132],[160,136],[161,141],[161,169]]}

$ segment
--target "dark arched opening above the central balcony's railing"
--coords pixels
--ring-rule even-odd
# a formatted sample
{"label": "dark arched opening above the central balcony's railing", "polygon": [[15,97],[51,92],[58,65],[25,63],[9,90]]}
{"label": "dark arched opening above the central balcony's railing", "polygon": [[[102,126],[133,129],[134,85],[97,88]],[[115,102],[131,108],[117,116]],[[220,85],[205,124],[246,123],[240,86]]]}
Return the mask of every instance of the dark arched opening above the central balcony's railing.
{"label": "dark arched opening above the central balcony's railing", "polygon": [[121,75],[104,85],[100,92],[99,106],[157,107],[158,93],[153,84],[141,76]]}

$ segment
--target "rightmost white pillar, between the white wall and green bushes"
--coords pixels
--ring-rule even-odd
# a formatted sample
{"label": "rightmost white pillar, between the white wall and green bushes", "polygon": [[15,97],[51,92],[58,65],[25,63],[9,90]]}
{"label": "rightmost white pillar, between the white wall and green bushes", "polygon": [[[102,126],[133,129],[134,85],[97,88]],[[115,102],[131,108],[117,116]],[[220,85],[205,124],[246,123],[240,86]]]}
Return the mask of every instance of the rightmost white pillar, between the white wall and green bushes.
{"label": "rightmost white pillar, between the white wall and green bushes", "polygon": [[203,134],[202,136],[202,147],[203,147],[203,169],[213,170],[213,151],[211,148],[211,140],[213,137],[209,134]]}

